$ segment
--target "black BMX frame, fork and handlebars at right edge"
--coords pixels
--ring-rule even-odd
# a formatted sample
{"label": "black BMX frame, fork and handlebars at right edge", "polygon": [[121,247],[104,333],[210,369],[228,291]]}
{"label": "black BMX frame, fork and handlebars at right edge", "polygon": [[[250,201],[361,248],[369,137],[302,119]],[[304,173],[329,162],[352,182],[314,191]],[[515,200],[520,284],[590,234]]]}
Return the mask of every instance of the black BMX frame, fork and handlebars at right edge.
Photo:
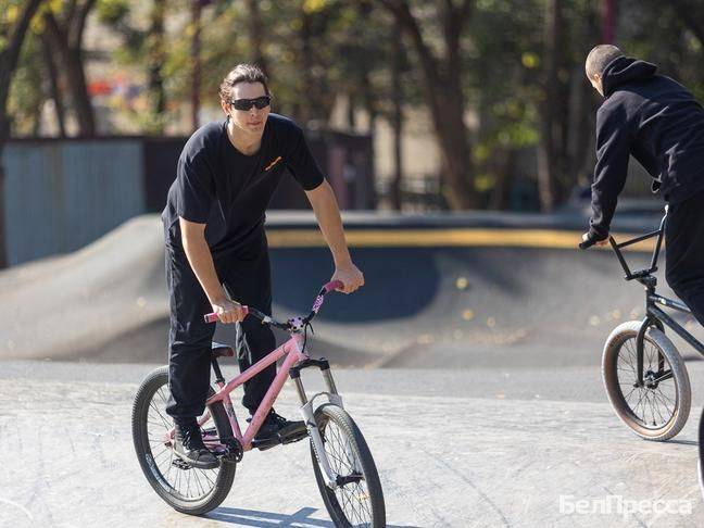
{"label": "black BMX frame, fork and handlebars at right edge", "polygon": [[[649,232],[641,237],[633,238],[631,240],[627,240],[626,242],[621,242],[621,243],[616,243],[614,237],[608,237],[608,241],[612,248],[614,249],[616,256],[618,257],[618,262],[620,262],[624,272],[626,272],[626,276],[624,278],[626,280],[638,280],[640,284],[642,284],[645,287],[645,318],[643,319],[643,323],[636,338],[638,384],[640,387],[644,385],[643,348],[644,348],[645,332],[648,331],[648,328],[650,328],[651,326],[656,326],[662,331],[664,331],[665,326],[667,326],[668,328],[672,329],[678,336],[684,339],[684,341],[687,341],[694,350],[696,350],[700,354],[704,356],[704,344],[702,344],[694,336],[692,336],[689,331],[687,331],[679,323],[672,319],[672,317],[670,317],[667,313],[665,313],[659,307],[659,305],[662,305],[671,310],[676,310],[678,312],[683,312],[686,314],[692,313],[690,309],[687,307],[687,305],[684,305],[684,303],[672,299],[667,299],[666,297],[663,297],[655,292],[655,288],[657,287],[657,278],[653,275],[653,273],[657,271],[657,259],[659,256],[661,248],[663,246],[663,238],[665,235],[666,224],[667,224],[667,206],[665,208],[665,215],[663,216],[659,228],[657,230]],[[621,248],[626,248],[628,246],[642,242],[643,240],[648,240],[653,237],[657,237],[657,241],[655,242],[655,248],[653,250],[653,257],[651,260],[650,267],[646,269],[631,272],[630,268],[628,267],[628,264],[626,263],[626,259],[624,259],[623,252],[620,251]],[[658,361],[659,375],[658,377],[653,379],[653,382],[663,381],[665,379],[672,377],[671,372],[664,373],[663,368],[664,368],[664,359],[661,356]]]}

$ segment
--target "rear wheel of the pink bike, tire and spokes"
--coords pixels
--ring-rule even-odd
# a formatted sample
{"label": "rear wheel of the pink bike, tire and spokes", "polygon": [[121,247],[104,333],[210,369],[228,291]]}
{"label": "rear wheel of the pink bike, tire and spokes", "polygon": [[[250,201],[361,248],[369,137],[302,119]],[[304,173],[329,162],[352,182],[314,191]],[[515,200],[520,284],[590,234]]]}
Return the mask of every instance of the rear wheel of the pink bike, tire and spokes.
{"label": "rear wheel of the pink bike, tire and spokes", "polygon": [[[153,400],[160,389],[162,389],[162,392],[160,392],[159,398],[160,400],[162,400],[162,402],[159,403],[165,404],[165,401],[163,401],[164,387],[166,388],[166,391],[168,391],[167,366],[159,367],[155,370],[152,370],[144,378],[139,389],[137,390],[137,394],[135,395],[131,414],[131,427],[133,441],[135,444],[135,452],[137,453],[137,460],[139,461],[139,465],[141,466],[144,477],[147,477],[147,480],[149,481],[151,487],[154,489],[156,494],[164,500],[164,502],[166,502],[177,512],[189,515],[203,515],[216,508],[229,493],[230,488],[232,487],[232,481],[235,479],[237,464],[234,462],[221,460],[219,466],[216,469],[209,470],[216,472],[216,475],[210,474],[213,478],[208,477],[209,474],[202,469],[180,469],[176,467],[176,469],[174,469],[175,472],[200,472],[202,474],[202,482],[201,477],[199,477],[197,473],[192,474],[193,481],[198,481],[198,486],[200,486],[201,491],[203,492],[202,495],[197,495],[193,498],[185,496],[183,493],[179,493],[178,490],[174,488],[174,486],[172,486],[172,483],[169,482],[169,474],[173,465],[173,454],[169,454],[168,451],[166,452],[166,455],[172,456],[172,458],[169,458],[169,462],[167,463],[168,470],[167,475],[165,476],[155,462],[155,460],[162,455],[154,455],[152,453],[151,444],[154,443],[154,432],[151,433],[152,440],[150,443],[150,428],[148,426],[149,410],[150,406],[155,405]],[[210,388],[209,394],[213,393],[213,389]],[[224,438],[225,436],[231,436],[231,432],[229,432],[229,435],[226,432],[230,431],[230,426],[227,419],[227,414],[225,413],[225,408],[223,407],[222,403],[212,405],[210,411],[219,437]],[[164,428],[162,430],[166,431],[166,426],[167,422],[169,422],[169,418],[164,414],[162,420],[164,422]],[[153,422],[151,424],[153,425]],[[169,449],[171,448],[166,448],[166,450]],[[165,461],[165,458],[163,458],[163,461]],[[177,477],[175,478],[180,479],[180,475],[176,475]],[[190,489],[191,476],[189,475],[187,477],[184,477],[184,479],[186,478],[189,479],[188,483]],[[180,480],[178,481],[180,482]],[[197,485],[194,483],[194,486]],[[210,489],[206,490],[206,487]]]}

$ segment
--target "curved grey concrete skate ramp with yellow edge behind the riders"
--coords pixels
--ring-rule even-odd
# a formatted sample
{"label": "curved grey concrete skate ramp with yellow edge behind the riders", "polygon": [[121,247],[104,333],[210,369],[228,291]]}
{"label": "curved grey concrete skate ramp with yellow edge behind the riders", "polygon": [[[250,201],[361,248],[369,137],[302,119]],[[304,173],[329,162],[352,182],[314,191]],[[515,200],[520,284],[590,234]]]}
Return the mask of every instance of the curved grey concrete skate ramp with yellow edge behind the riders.
{"label": "curved grey concrete skate ramp with yellow edge behind the riders", "polygon": [[[328,297],[310,340],[314,355],[363,367],[596,364],[611,329],[642,317],[642,288],[623,280],[609,251],[571,249],[579,231],[523,226],[348,228],[366,287]],[[309,243],[300,227],[269,227],[280,317],[307,310],[332,272],[316,231],[307,229]],[[633,267],[648,261],[628,256]],[[166,334],[155,216],[76,253],[0,273],[1,359],[159,363]],[[234,342],[234,328],[216,338]]]}

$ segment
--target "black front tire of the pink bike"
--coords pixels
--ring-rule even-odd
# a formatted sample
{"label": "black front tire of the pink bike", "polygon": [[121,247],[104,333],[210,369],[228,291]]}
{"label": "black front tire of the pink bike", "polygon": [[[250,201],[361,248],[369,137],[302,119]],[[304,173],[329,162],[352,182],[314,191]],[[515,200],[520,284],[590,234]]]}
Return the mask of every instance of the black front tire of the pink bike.
{"label": "black front tire of the pink bike", "polygon": [[[335,422],[341,431],[348,437],[350,445],[355,452],[355,456],[362,466],[364,480],[366,481],[367,490],[369,492],[369,502],[372,507],[372,528],[382,528],[386,526],[386,506],[384,502],[384,491],[379,480],[372,452],[367,447],[360,428],[356,426],[350,415],[340,406],[326,403],[315,410],[315,422],[318,425],[320,433],[324,435],[325,426],[328,420]],[[330,514],[330,518],[337,527],[351,527],[353,526],[347,518],[344,511],[340,507],[338,499],[332,490],[326,483],[323,473],[318,465],[315,448],[311,442],[311,458],[313,461],[313,472],[315,474],[315,481],[317,483],[325,507]]]}

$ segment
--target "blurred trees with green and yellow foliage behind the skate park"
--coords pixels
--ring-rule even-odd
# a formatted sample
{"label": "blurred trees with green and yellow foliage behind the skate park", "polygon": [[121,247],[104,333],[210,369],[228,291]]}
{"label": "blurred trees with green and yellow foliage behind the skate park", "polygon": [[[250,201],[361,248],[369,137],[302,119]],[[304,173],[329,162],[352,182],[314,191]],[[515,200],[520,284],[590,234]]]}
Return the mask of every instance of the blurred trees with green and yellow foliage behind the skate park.
{"label": "blurred trees with green and yellow foliage behind the skate park", "polygon": [[[23,3],[0,2],[0,42],[10,38]],[[340,98],[350,101],[347,122],[357,130],[374,131],[378,120],[400,130],[403,109],[399,112],[394,102],[406,109],[424,105],[435,120],[430,131],[445,144],[442,179],[454,180],[467,193],[457,200],[451,192],[450,202],[516,208],[515,190],[521,188],[530,206],[540,197],[540,205],[550,210],[575,185],[587,185],[593,167],[600,98],[584,78],[583,61],[600,43],[600,4],[213,0],[202,10],[200,99],[203,108],[217,111],[223,76],[240,62],[260,62],[271,76],[274,111],[304,126],[325,126]],[[190,112],[192,1],[48,0],[43,9],[70,33],[71,14],[81,7],[85,14],[93,5],[97,20],[122,37],[112,60],[137,72],[134,77],[143,85],[147,102],[131,110],[133,123],[148,134],[186,133],[183,125],[168,125],[188,123]],[[616,43],[628,54],[655,62],[704,101],[704,3],[619,0],[617,5]],[[464,23],[456,24],[448,13],[463,16]],[[47,22],[45,15],[35,24],[38,18]],[[55,97],[38,39],[43,32],[46,27],[33,26],[14,70],[9,108],[17,134],[39,130],[37,109]],[[76,46],[73,56],[80,58]],[[395,80],[393,72],[400,72]],[[70,109],[70,86],[65,79],[61,86]],[[355,110],[370,120],[360,122]],[[454,123],[450,128],[449,122]],[[462,135],[466,137],[457,140]],[[451,178],[448,166],[453,167]]]}

